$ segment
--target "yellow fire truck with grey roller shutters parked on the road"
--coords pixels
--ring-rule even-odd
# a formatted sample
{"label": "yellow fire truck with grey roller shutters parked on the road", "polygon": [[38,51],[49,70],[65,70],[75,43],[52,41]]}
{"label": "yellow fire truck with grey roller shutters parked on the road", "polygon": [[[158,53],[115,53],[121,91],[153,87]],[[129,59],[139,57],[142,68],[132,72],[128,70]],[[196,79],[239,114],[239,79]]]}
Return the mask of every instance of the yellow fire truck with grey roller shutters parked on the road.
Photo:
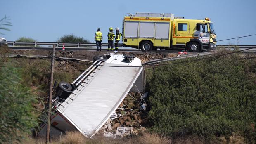
{"label": "yellow fire truck with grey roller shutters parked on the road", "polygon": [[216,32],[209,18],[174,17],[174,14],[126,14],[123,19],[123,45],[152,51],[159,49],[202,52],[216,48]]}

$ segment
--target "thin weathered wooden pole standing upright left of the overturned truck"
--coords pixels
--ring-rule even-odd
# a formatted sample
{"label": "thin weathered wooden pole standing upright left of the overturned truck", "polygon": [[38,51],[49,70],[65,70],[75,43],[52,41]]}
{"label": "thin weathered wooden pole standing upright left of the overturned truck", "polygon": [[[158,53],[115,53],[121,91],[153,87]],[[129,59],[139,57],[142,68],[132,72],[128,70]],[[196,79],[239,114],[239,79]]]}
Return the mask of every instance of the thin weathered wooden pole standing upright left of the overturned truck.
{"label": "thin weathered wooden pole standing upright left of the overturned truck", "polygon": [[53,71],[54,71],[54,59],[55,59],[55,45],[52,46],[52,64],[51,64],[51,81],[50,81],[50,95],[48,101],[48,120],[45,144],[50,142],[50,125],[51,125],[51,112],[52,112],[52,83],[53,83]]}

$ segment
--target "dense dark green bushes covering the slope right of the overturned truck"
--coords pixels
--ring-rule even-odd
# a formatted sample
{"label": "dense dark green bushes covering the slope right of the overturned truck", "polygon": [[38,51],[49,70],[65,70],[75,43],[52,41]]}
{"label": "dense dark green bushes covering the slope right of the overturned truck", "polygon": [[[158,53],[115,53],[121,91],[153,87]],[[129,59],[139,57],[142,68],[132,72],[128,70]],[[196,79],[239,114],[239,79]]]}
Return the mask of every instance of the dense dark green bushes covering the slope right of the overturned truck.
{"label": "dense dark green bushes covering the slope right of the overturned truck", "polygon": [[204,139],[235,132],[255,143],[255,73],[254,59],[237,54],[157,66],[147,83],[151,130]]}

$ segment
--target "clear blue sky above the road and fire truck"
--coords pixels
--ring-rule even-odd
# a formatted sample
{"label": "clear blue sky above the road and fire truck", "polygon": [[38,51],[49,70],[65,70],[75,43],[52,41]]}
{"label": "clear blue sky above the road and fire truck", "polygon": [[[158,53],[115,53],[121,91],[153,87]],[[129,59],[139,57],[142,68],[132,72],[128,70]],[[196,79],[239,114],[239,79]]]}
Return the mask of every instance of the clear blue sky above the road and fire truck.
{"label": "clear blue sky above the road and fire truck", "polygon": [[[256,34],[256,0],[0,0],[0,18],[11,18],[9,41],[21,36],[55,42],[64,34],[94,42],[97,28],[107,42],[109,27],[122,28],[126,13],[173,13],[185,19],[210,17],[217,40]],[[240,45],[256,45],[256,36],[240,38]],[[236,43],[236,40],[218,44]]]}

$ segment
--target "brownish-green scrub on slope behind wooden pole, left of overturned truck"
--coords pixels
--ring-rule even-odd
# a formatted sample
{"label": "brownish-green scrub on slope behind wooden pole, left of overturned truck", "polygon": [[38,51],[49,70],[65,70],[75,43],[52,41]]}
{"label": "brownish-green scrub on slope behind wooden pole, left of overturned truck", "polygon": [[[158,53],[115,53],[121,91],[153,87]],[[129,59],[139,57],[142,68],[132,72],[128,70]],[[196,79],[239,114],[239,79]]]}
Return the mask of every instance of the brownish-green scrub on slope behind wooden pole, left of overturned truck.
{"label": "brownish-green scrub on slope behind wooden pole, left of overturned truck", "polygon": [[[33,87],[35,94],[40,97],[47,97],[50,88],[50,59],[12,59],[16,67],[21,68],[22,84]],[[81,64],[83,65],[83,64]],[[79,69],[71,70],[69,64],[60,64],[55,61],[54,81],[66,81],[71,83],[80,74]],[[83,67],[84,68],[84,67]]]}

